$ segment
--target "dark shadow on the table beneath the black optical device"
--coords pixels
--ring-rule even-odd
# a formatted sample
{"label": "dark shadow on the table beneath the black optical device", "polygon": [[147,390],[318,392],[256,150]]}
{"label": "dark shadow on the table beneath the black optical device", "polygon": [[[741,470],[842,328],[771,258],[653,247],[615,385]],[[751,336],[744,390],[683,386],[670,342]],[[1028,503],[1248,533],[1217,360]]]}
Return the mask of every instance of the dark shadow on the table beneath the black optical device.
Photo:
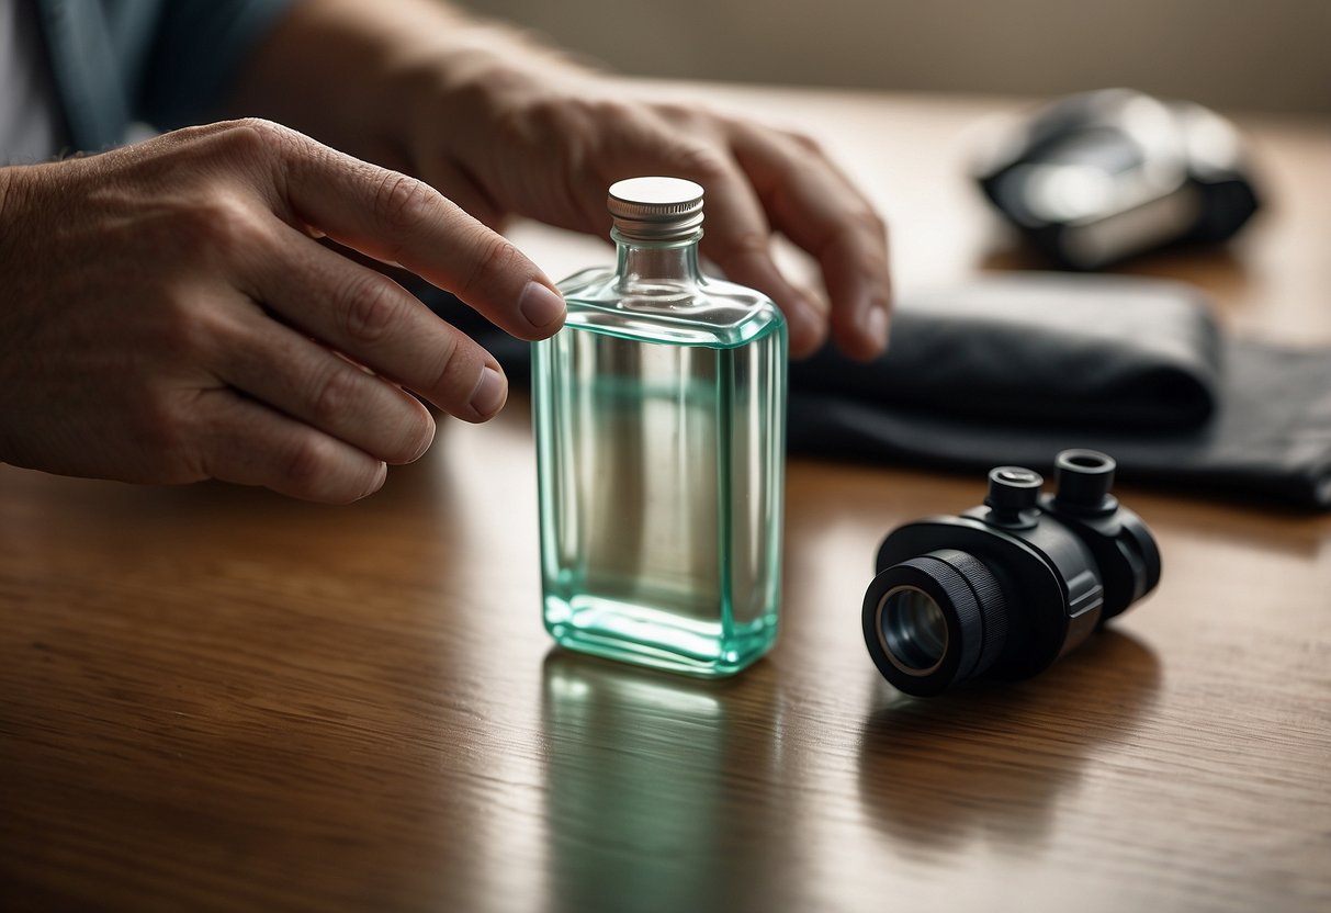
{"label": "dark shadow on the table beneath the black optical device", "polygon": [[860,800],[906,857],[985,840],[1020,854],[1050,830],[1059,795],[1122,745],[1159,688],[1154,653],[1117,631],[1028,681],[934,699],[874,681]]}

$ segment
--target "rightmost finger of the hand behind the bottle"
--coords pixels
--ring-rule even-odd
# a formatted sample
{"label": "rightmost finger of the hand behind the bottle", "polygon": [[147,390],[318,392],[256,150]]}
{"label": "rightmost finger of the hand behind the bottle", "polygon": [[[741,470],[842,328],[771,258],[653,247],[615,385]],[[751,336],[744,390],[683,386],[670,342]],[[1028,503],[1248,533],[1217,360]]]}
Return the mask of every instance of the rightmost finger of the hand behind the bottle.
{"label": "rightmost finger of the hand behind the bottle", "polygon": [[892,307],[882,220],[808,141],[744,124],[733,125],[733,149],[773,226],[817,258],[837,343],[877,355]]}

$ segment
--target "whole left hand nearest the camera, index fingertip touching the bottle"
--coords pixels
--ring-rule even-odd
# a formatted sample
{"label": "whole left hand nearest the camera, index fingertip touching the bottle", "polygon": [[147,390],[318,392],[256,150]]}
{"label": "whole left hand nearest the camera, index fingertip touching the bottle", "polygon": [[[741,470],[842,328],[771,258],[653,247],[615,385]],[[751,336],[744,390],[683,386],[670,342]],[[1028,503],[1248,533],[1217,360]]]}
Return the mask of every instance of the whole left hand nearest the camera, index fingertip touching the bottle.
{"label": "whole left hand nearest the camera, index fingertip touching the bottle", "polygon": [[563,322],[550,281],[418,180],[265,121],[0,169],[0,459],[129,482],[217,478],[326,502],[379,488],[434,421],[507,381],[374,269],[502,329]]}

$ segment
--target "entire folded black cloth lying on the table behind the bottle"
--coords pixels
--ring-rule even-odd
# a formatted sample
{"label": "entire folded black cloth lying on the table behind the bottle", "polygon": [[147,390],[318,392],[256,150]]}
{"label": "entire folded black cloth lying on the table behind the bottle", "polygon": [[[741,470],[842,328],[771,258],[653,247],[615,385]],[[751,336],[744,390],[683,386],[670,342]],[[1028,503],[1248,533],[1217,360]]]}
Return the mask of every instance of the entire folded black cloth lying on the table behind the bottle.
{"label": "entire folded black cloth lying on the table behind the bottle", "polygon": [[[524,343],[441,313],[526,374]],[[1331,510],[1331,349],[1225,338],[1182,283],[1012,273],[905,295],[873,362],[791,366],[792,453],[1047,472],[1067,447],[1123,480]]]}

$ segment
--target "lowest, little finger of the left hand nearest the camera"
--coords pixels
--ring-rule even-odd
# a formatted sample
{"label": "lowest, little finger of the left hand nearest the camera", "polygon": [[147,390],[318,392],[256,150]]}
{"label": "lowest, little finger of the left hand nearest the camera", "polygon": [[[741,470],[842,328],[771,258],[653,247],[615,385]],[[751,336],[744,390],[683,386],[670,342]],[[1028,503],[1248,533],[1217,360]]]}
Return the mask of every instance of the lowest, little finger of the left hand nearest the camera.
{"label": "lowest, little finger of the left hand nearest the camera", "polygon": [[202,393],[193,414],[206,478],[334,504],[371,495],[387,478],[363,450],[229,390]]}

